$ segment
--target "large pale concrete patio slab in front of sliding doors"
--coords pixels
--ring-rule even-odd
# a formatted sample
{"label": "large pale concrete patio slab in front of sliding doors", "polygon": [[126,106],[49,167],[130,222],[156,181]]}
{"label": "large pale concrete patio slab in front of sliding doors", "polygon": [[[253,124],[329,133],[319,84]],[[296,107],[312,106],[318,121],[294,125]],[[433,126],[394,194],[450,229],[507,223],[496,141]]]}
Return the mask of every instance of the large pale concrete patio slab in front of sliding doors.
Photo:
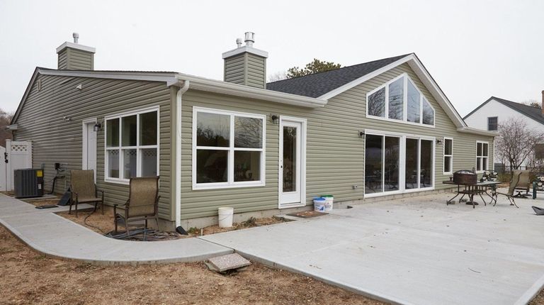
{"label": "large pale concrete patio slab in front of sliding doors", "polygon": [[544,200],[418,196],[203,240],[396,304],[526,304],[544,284]]}

